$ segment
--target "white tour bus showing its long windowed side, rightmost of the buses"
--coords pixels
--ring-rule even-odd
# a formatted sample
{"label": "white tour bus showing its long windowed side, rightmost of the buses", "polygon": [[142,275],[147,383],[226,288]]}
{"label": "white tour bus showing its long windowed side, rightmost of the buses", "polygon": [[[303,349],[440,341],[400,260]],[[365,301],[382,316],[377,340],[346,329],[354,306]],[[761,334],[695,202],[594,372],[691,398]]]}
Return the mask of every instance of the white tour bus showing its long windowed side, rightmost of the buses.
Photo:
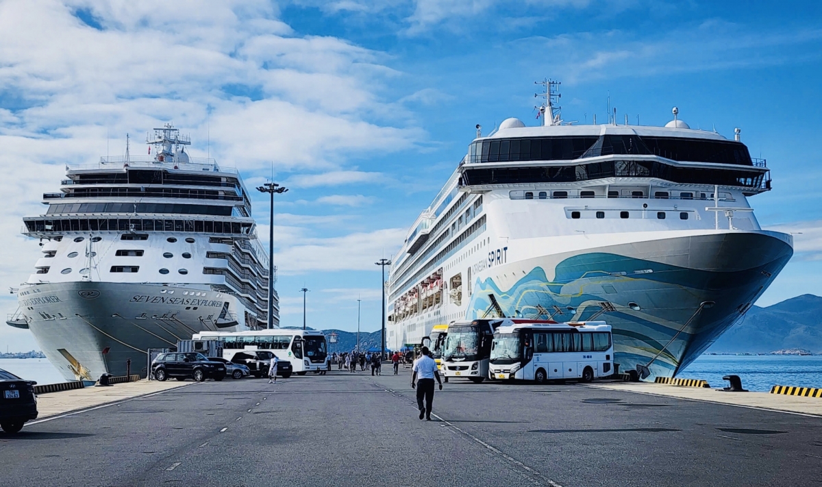
{"label": "white tour bus showing its long windowed side, rightmost of the buses", "polygon": [[605,322],[506,319],[494,333],[490,377],[589,383],[613,373],[613,355],[611,326]]}

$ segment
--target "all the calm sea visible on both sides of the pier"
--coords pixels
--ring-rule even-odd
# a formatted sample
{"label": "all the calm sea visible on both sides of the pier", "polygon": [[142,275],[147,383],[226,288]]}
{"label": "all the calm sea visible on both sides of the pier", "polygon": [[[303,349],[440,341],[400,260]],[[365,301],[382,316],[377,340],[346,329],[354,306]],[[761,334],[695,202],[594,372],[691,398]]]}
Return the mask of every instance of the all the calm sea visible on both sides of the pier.
{"label": "all the calm sea visible on both sides of the pier", "polygon": [[[0,359],[0,369],[39,384],[65,379],[47,359]],[[677,377],[701,378],[711,387],[725,387],[723,375],[736,374],[750,391],[768,392],[771,386],[822,387],[822,355],[702,355]]]}

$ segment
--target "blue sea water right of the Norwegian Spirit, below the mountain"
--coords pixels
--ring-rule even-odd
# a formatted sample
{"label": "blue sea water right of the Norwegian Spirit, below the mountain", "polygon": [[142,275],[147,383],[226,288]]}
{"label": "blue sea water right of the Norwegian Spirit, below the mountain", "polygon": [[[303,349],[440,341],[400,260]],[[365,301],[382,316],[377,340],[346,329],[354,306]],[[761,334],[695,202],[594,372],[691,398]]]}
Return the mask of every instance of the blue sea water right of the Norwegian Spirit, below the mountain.
{"label": "blue sea water right of the Norwegian Spirit, below the mountain", "polygon": [[749,391],[772,386],[822,387],[822,355],[701,355],[677,378],[701,378],[727,387],[725,375],[738,375]]}

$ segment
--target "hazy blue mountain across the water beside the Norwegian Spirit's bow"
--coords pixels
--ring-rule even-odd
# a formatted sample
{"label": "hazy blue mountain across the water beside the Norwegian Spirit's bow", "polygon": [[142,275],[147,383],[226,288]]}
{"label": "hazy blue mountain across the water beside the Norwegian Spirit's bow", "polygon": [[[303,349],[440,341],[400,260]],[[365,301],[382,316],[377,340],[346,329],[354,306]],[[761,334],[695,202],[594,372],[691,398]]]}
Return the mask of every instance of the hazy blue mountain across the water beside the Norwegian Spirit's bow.
{"label": "hazy blue mountain across the water beside the Norwegian Spirit's bow", "polygon": [[785,349],[822,353],[822,297],[801,295],[767,308],[754,306],[708,352],[755,354]]}

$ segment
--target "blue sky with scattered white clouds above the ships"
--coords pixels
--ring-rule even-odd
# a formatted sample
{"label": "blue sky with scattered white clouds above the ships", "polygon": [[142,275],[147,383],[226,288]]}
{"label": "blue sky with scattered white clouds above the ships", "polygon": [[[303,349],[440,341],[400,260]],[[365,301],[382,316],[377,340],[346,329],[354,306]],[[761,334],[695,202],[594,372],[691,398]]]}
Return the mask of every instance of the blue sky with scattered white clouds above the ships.
{"label": "blue sky with scattered white clouds above the ships", "polygon": [[[66,164],[132,154],[173,123],[191,153],[274,180],[284,325],[373,331],[381,274],[475,136],[538,124],[534,81],[560,80],[565,120],[733,137],[768,161],[760,224],[794,234],[760,306],[822,295],[822,7],[663,0],[0,0],[0,289],[39,256],[20,234]],[[254,194],[268,245],[266,198]],[[0,297],[14,313],[16,297]],[[358,303],[358,299],[360,299]],[[5,346],[3,346],[5,345]],[[31,350],[0,327],[0,350]]]}

